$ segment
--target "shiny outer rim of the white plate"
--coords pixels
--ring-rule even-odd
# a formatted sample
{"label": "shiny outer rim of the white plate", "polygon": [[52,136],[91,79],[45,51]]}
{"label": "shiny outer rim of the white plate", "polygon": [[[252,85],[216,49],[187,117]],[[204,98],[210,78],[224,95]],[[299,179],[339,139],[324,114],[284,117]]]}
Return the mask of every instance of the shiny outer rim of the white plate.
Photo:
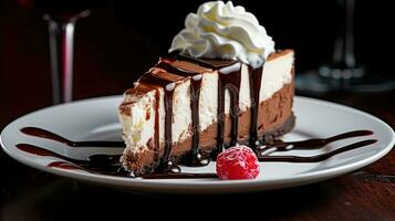
{"label": "shiny outer rim of the white plate", "polygon": [[[383,128],[392,131],[391,141],[381,151],[378,151],[372,156],[368,156],[366,158],[363,158],[358,161],[354,161],[352,164],[345,164],[345,165],[341,165],[341,166],[336,166],[336,167],[332,167],[332,168],[324,168],[324,169],[320,169],[318,171],[309,171],[308,173],[303,173],[303,172],[297,173],[297,175],[294,175],[292,177],[288,177],[288,178],[282,177],[282,178],[274,178],[271,180],[258,180],[258,179],[254,179],[254,180],[210,180],[208,182],[200,181],[198,183],[196,183],[196,182],[179,182],[179,180],[178,181],[177,180],[166,180],[166,182],[164,183],[163,180],[131,179],[131,178],[125,178],[125,177],[94,175],[94,173],[81,172],[81,171],[74,171],[74,170],[62,170],[62,169],[58,169],[58,168],[48,168],[44,165],[40,165],[40,164],[33,162],[31,160],[25,160],[23,157],[20,157],[18,155],[11,152],[11,150],[8,147],[6,147],[6,145],[2,141],[3,133],[8,129],[8,127],[10,125],[12,125],[14,122],[17,122],[23,117],[29,117],[30,115],[33,115],[41,110],[59,108],[64,105],[70,105],[70,104],[75,105],[75,104],[82,104],[82,103],[86,103],[86,102],[94,102],[94,101],[101,101],[101,99],[114,99],[114,98],[121,98],[121,96],[119,95],[111,95],[111,96],[100,96],[100,97],[93,97],[93,98],[86,98],[86,99],[79,99],[79,101],[74,101],[72,103],[59,104],[59,105],[44,107],[44,108],[28,113],[25,115],[22,115],[18,118],[13,119],[11,123],[9,123],[2,129],[2,131],[0,134],[0,145],[7,155],[9,155],[11,158],[15,159],[20,164],[23,164],[23,165],[27,165],[34,169],[50,172],[50,173],[53,173],[53,175],[56,175],[60,177],[66,177],[66,178],[72,178],[72,179],[76,179],[76,180],[94,182],[97,185],[117,186],[117,187],[123,187],[126,189],[136,189],[139,191],[148,190],[152,192],[162,192],[160,190],[157,190],[157,188],[162,186],[160,189],[171,190],[173,192],[179,191],[179,188],[183,187],[181,189],[184,189],[184,190],[188,189],[188,190],[195,190],[195,191],[205,191],[207,193],[210,193],[210,192],[214,193],[214,192],[217,192],[218,190],[225,190],[226,192],[232,192],[232,190],[235,191],[236,187],[240,187],[240,186],[242,186],[243,189],[237,189],[236,190],[237,192],[277,189],[277,188],[270,188],[272,185],[276,185],[276,183],[282,183],[282,187],[284,187],[284,186],[287,187],[287,185],[295,187],[295,186],[300,186],[300,185],[306,185],[306,183],[309,183],[309,180],[311,180],[311,182],[316,182],[320,180],[331,179],[333,177],[341,176],[341,175],[347,173],[350,171],[356,170],[358,168],[365,167],[365,166],[381,159],[387,152],[391,151],[391,149],[393,148],[393,146],[395,144],[395,133],[394,133],[393,128],[388,124],[386,124],[384,120],[382,120],[381,118],[378,118],[372,114],[365,113],[363,110],[356,109],[354,107],[350,107],[350,106],[333,103],[333,102],[322,101],[322,99],[318,99],[318,98],[305,97],[305,96],[294,96],[294,99],[298,99],[301,102],[308,102],[308,103],[315,103],[315,104],[325,105],[325,106],[332,106],[337,109],[342,109],[342,110],[346,110],[346,112],[354,112],[354,113],[357,113],[364,117],[368,117],[373,120],[378,122],[380,125],[383,126]],[[285,185],[283,183],[284,181],[285,181]],[[300,183],[294,185],[294,182],[300,182]],[[269,188],[260,189],[260,187],[264,187],[264,186],[268,186]],[[190,192],[190,193],[193,193],[193,192]]]}

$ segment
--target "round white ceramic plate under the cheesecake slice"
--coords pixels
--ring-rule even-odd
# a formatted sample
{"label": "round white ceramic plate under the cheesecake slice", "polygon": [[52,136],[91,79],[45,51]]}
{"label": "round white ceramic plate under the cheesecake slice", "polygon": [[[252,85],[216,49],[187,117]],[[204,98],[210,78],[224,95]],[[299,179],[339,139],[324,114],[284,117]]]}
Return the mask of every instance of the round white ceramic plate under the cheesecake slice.
{"label": "round white ceramic plate under the cheesecake slice", "polygon": [[[374,135],[351,138],[328,145],[319,150],[291,150],[274,155],[312,156],[339,148],[345,144],[364,139],[378,141],[366,147],[336,155],[322,162],[261,164],[260,176],[254,180],[218,179],[164,179],[143,180],[125,177],[90,173],[82,170],[66,170],[48,167],[56,160],[19,150],[15,145],[25,143],[45,147],[71,158],[84,159],[92,154],[119,154],[119,148],[70,148],[61,143],[32,137],[20,131],[27,126],[45,128],[71,140],[121,140],[121,125],[117,119],[119,96],[110,96],[73,102],[44,108],[18,118],[1,133],[1,146],[18,161],[55,175],[133,191],[220,193],[271,190],[301,186],[326,180],[370,165],[387,154],[395,143],[393,129],[381,119],[361,110],[319,99],[295,97],[294,114],[297,125],[284,140],[329,137],[356,129],[368,129]],[[215,162],[201,168],[186,168],[183,171],[215,172]]]}

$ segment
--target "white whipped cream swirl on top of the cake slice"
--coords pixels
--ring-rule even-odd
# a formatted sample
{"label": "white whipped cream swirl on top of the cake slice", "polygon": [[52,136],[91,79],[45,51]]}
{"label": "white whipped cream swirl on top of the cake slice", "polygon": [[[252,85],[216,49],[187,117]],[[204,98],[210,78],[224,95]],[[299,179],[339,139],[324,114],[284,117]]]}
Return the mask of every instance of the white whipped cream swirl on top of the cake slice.
{"label": "white whipped cream swirl on top of the cake slice", "polygon": [[173,40],[169,52],[194,57],[240,60],[259,67],[274,52],[274,42],[257,18],[231,1],[201,4],[189,13],[185,29]]}

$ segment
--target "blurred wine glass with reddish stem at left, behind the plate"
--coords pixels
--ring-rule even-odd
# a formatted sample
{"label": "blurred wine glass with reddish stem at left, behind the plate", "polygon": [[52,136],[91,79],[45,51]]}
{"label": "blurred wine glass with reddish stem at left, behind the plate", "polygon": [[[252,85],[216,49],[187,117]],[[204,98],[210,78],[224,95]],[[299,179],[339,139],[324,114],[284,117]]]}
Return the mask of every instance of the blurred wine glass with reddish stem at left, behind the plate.
{"label": "blurred wine glass with reddish stem at left, behind the plate", "polygon": [[73,44],[75,22],[87,17],[101,0],[18,0],[48,21],[53,104],[73,98]]}

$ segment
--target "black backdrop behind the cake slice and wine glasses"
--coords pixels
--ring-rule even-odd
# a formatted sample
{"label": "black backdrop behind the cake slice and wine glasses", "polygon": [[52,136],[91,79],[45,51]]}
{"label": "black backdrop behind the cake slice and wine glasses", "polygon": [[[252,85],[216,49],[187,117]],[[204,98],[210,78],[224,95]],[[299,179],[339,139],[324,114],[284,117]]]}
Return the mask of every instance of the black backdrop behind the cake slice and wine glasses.
{"label": "black backdrop behind the cake slice and wine glasses", "polygon": [[[134,1],[133,1],[134,2]],[[107,1],[76,24],[75,98],[121,94],[166,53],[188,12],[202,1]],[[297,74],[332,56],[341,11],[335,0],[233,1],[254,13],[277,49],[297,51]],[[357,1],[355,51],[374,73],[393,74],[394,12],[388,1]],[[46,23],[17,0],[0,1],[0,108],[11,117],[51,105]],[[90,85],[90,86],[87,86]],[[25,99],[27,94],[33,95]],[[37,94],[38,96],[34,96]],[[35,97],[41,97],[37,101]],[[22,108],[22,109],[21,109]],[[0,126],[10,116],[0,115]]]}

